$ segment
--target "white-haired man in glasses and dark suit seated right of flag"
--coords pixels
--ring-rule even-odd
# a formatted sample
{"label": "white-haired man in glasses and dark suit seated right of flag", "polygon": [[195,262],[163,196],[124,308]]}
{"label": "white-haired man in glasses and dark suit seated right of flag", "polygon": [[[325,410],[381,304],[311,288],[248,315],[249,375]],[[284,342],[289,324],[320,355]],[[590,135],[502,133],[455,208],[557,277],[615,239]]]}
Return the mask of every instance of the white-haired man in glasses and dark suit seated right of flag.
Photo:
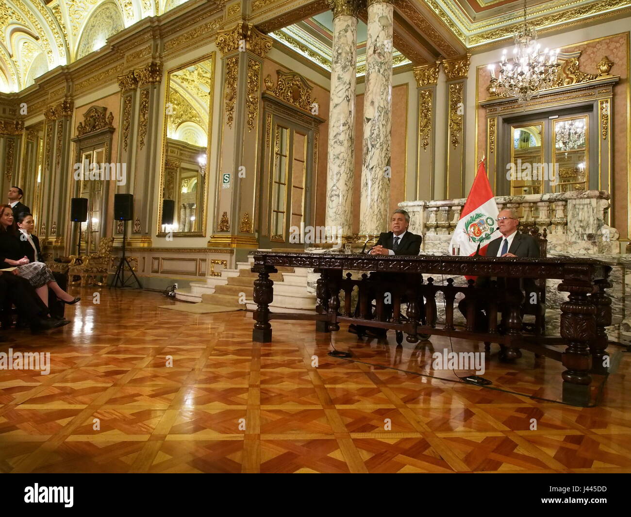
{"label": "white-haired man in glasses and dark suit seated right of flag", "polygon": [[[532,235],[522,234],[517,231],[519,226],[519,218],[514,210],[502,210],[497,215],[497,227],[500,230],[501,237],[491,241],[487,246],[487,257],[532,257],[540,256],[540,248],[537,241]],[[498,278],[498,288],[503,288],[503,278]],[[488,276],[480,276],[476,280],[476,288],[484,288],[490,282]],[[522,288],[526,291],[526,303],[531,303],[530,294],[536,293],[536,285],[531,278],[524,278]],[[535,304],[538,302],[534,302]],[[467,317],[469,303],[472,300],[464,299],[458,304],[458,309]],[[476,304],[475,328],[477,331],[486,331],[488,329],[488,304],[478,302]]]}

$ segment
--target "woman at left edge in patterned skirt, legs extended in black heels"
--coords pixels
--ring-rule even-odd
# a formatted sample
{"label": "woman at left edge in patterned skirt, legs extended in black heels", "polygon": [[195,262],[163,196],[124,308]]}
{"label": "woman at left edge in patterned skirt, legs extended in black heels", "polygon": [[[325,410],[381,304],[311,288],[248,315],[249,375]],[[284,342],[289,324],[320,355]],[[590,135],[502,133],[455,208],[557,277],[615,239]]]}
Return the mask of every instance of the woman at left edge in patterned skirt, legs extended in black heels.
{"label": "woman at left edge in patterned skirt, legs extended in black heels", "polygon": [[43,262],[31,262],[20,244],[20,232],[13,220],[13,210],[9,205],[0,205],[0,263],[16,266],[18,275],[26,278],[35,288],[42,302],[48,306],[48,288],[59,300],[66,304],[76,304],[80,298],[73,298],[55,282],[52,271]]}

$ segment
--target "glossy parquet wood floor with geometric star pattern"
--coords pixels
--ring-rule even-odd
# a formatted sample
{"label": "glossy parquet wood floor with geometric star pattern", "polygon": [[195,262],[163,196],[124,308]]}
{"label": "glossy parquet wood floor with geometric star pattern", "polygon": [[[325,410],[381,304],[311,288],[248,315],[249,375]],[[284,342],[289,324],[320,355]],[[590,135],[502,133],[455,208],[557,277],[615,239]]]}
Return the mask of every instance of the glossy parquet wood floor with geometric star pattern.
{"label": "glossy parquet wood floor with geometric star pattern", "polygon": [[0,472],[631,472],[620,348],[600,405],[577,408],[526,396],[554,399],[560,384],[560,365],[529,352],[516,366],[492,355],[485,377],[506,390],[493,391],[386,367],[427,372],[444,338],[396,348],[392,333],[362,342],[343,328],[333,340],[349,362],[309,322],[273,321],[260,345],[251,313],[92,292],[76,293],[61,331],[0,343],[51,361],[47,376],[0,370]]}

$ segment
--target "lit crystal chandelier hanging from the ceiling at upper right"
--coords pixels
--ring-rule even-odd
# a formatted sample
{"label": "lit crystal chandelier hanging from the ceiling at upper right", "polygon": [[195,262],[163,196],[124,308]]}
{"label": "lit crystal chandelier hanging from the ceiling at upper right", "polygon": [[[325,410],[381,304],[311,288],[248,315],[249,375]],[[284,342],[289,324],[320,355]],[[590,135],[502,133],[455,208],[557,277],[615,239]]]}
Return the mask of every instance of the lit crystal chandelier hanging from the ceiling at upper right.
{"label": "lit crystal chandelier hanging from the ceiling at upper right", "polygon": [[488,92],[498,97],[517,97],[526,102],[537,97],[541,90],[555,85],[560,64],[557,63],[558,49],[541,52],[534,27],[526,23],[526,0],[524,0],[524,25],[515,33],[515,47],[512,59],[502,52],[498,76],[495,64],[490,64],[491,81]]}

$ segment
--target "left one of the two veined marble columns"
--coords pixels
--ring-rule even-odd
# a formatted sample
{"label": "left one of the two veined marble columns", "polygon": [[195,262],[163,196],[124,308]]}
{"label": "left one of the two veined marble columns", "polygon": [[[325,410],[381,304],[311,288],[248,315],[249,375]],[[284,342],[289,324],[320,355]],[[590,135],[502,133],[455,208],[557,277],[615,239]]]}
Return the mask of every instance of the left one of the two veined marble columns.
{"label": "left one of the two veined marble columns", "polygon": [[[329,102],[326,177],[326,227],[339,229],[346,241],[351,229],[355,172],[355,85],[357,74],[357,3],[333,0],[333,60]],[[330,230],[333,233],[334,230]],[[327,235],[329,237],[329,235]],[[330,235],[333,237],[333,235]]]}

